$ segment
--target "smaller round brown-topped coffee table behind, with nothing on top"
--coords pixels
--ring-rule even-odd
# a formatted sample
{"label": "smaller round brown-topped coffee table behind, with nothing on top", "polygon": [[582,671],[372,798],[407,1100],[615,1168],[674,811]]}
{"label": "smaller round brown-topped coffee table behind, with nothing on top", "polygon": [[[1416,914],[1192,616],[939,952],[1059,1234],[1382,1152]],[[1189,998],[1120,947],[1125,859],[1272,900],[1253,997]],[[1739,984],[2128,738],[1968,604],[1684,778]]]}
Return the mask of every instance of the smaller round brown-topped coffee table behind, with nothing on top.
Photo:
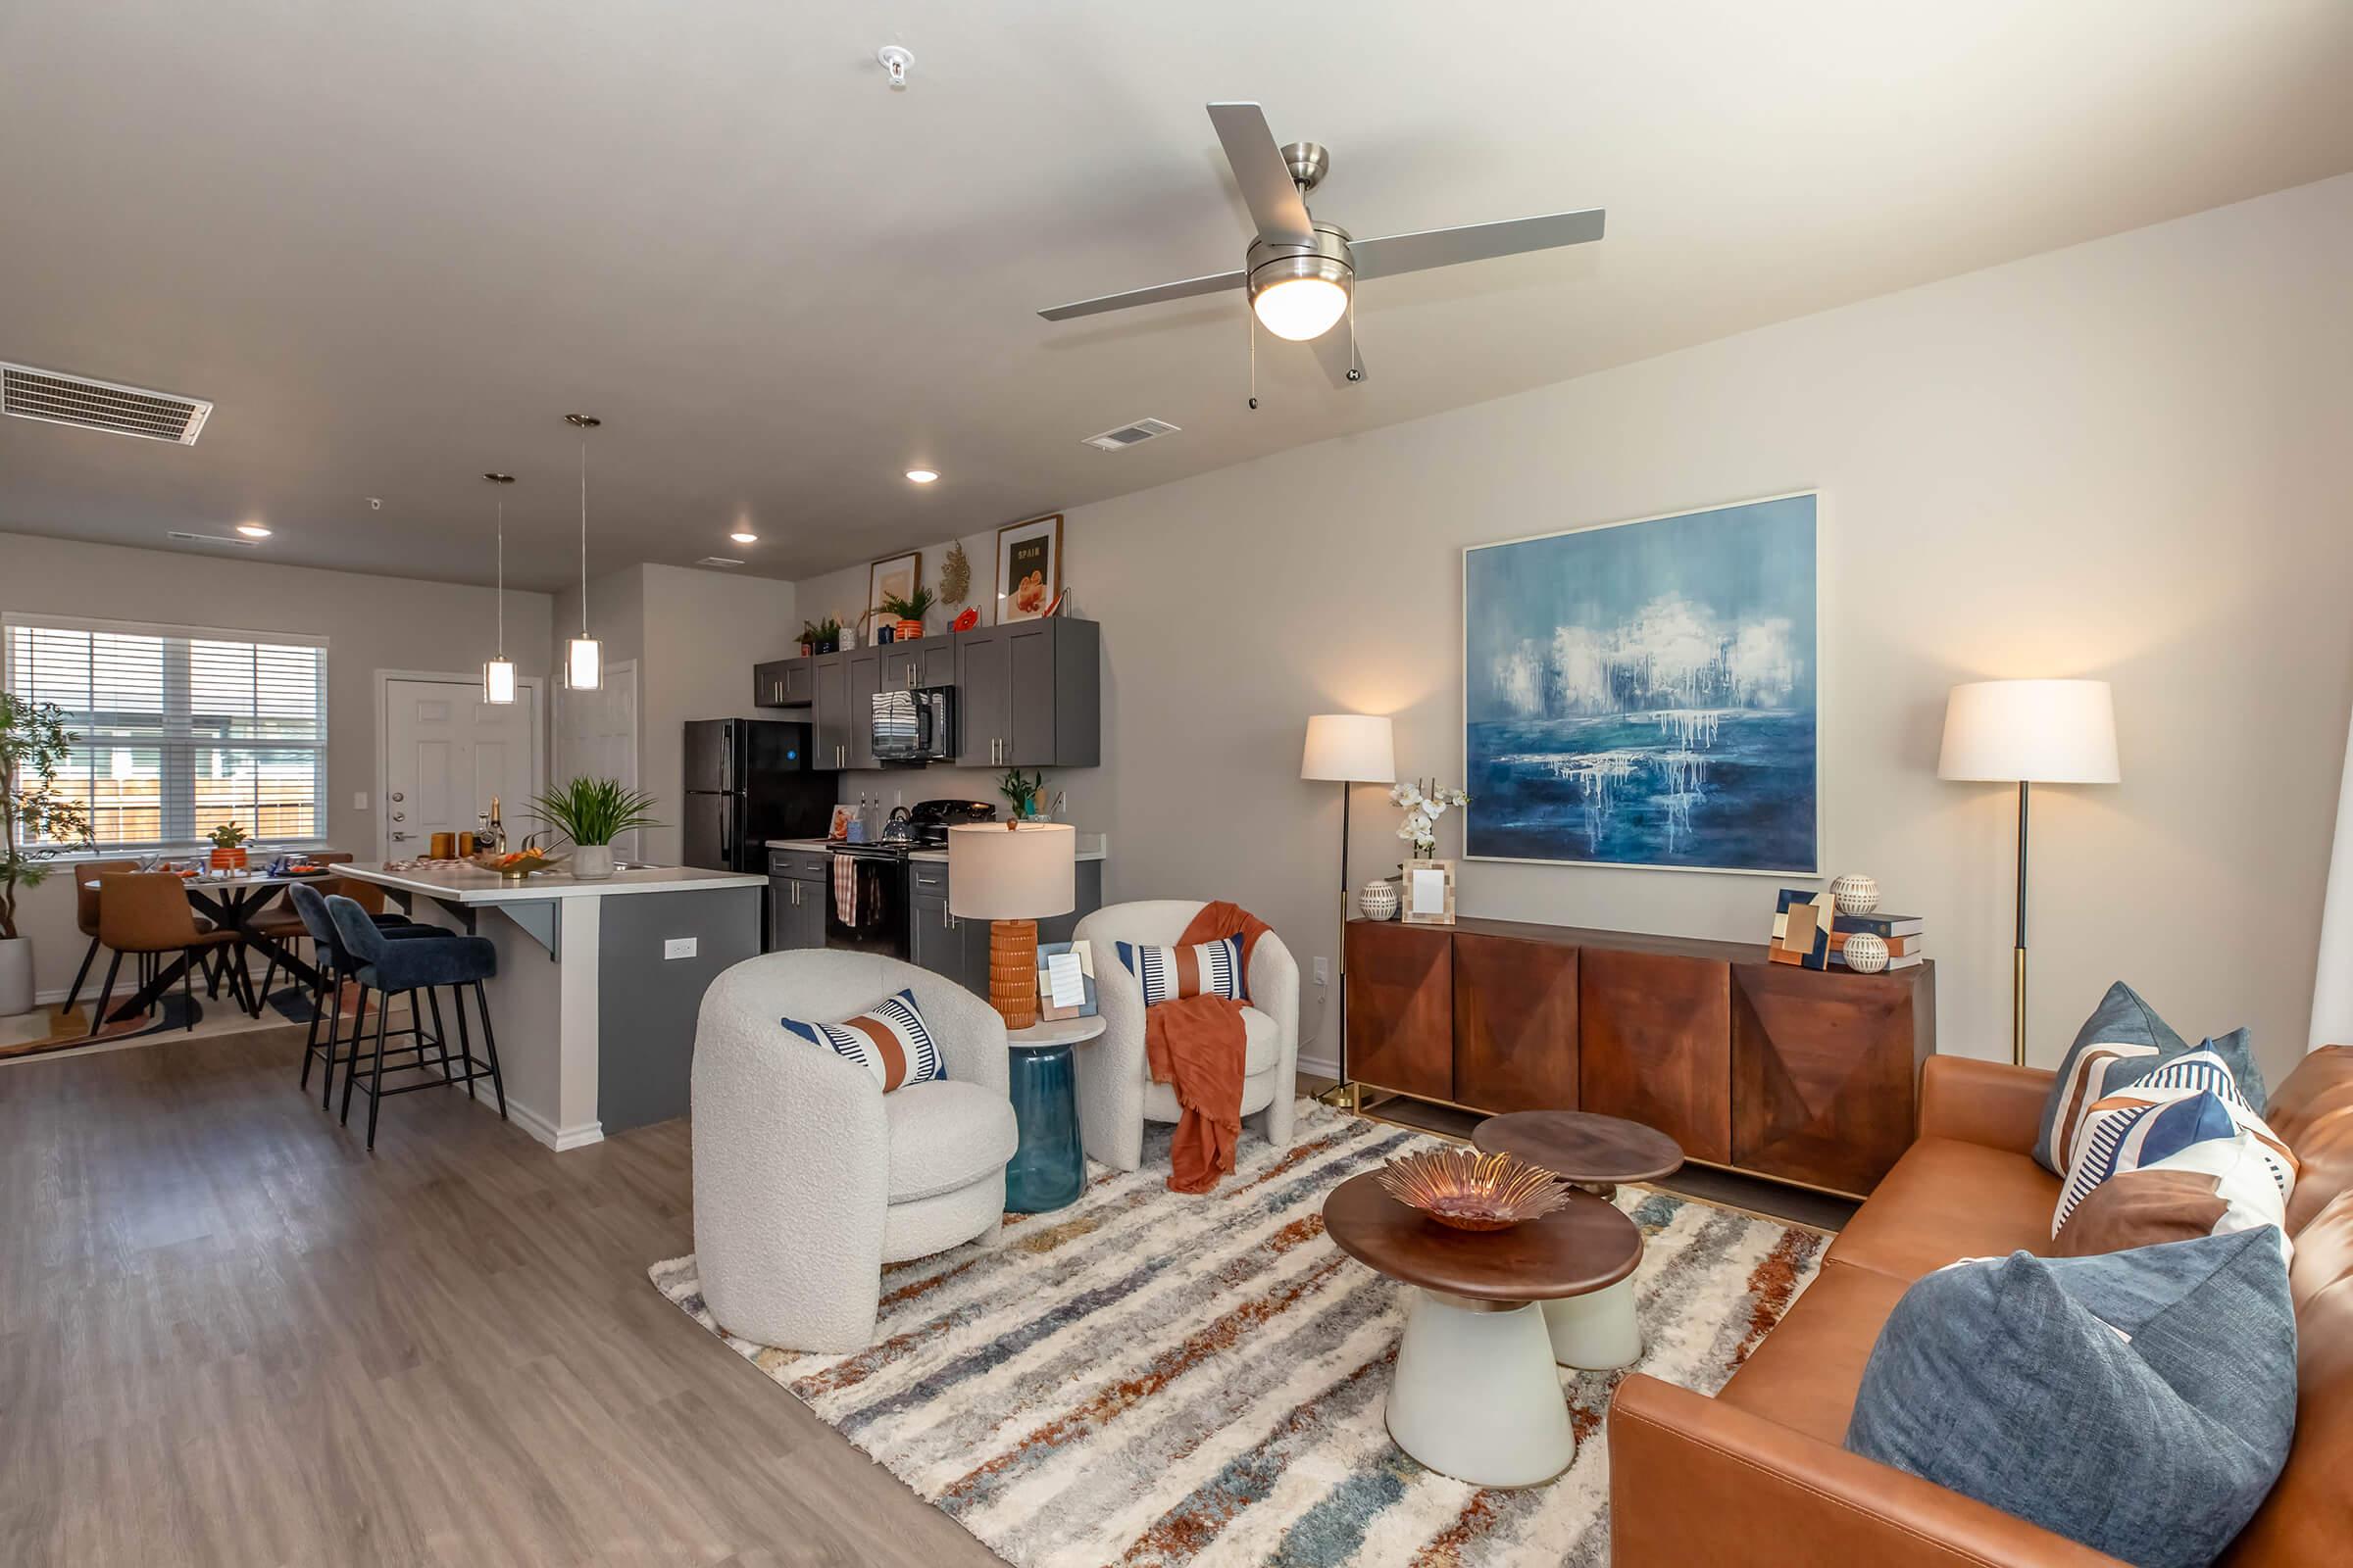
{"label": "smaller round brown-topped coffee table behind, with nothing on top", "polygon": [[[1652,1182],[1682,1168],[1682,1147],[1659,1128],[1584,1110],[1515,1110],[1487,1117],[1471,1133],[1480,1154],[1518,1154],[1565,1175],[1595,1197],[1619,1182]],[[1553,1359],[1562,1366],[1612,1371],[1642,1359],[1633,1279],[1544,1305]]]}

